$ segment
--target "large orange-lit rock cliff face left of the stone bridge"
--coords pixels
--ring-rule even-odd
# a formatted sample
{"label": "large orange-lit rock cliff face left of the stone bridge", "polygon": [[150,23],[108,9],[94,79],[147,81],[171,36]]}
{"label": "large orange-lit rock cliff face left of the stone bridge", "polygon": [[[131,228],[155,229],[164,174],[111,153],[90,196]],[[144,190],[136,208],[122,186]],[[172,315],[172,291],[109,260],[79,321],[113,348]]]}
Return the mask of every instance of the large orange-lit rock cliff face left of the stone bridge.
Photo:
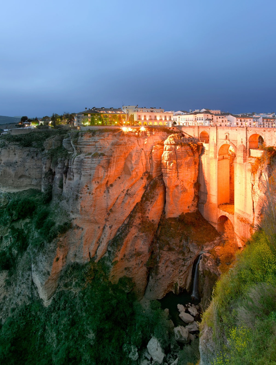
{"label": "large orange-lit rock cliff face left of the stone bridge", "polygon": [[[56,136],[44,147],[37,160],[30,158],[30,175],[41,176],[35,187],[41,184],[42,191],[52,187],[53,204],[58,201],[69,213],[73,227],[39,253],[31,253],[32,281],[45,304],[68,264],[102,257],[110,263],[111,280],[133,278],[139,298],[145,292],[155,299],[189,288],[194,260],[216,236],[210,228],[209,237],[189,242],[190,233],[184,237],[177,227],[179,215],[196,211],[200,146],[182,143],[166,131],[118,129]],[[1,151],[2,171],[11,161],[12,148]],[[67,153],[58,158],[57,149]],[[22,168],[29,171],[27,163]],[[19,174],[16,165],[13,161],[10,169]],[[7,181],[1,179],[1,185],[2,180]],[[29,188],[30,181],[20,188]],[[179,234],[164,244],[168,229]]]}

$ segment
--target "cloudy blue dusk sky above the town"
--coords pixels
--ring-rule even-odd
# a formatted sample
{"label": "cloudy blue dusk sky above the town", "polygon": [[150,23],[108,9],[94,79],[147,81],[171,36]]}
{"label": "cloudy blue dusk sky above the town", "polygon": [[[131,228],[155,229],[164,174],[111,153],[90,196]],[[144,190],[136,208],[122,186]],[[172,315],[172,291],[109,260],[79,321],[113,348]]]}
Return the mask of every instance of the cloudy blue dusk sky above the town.
{"label": "cloudy blue dusk sky above the town", "polygon": [[275,0],[10,0],[0,115],[276,111]]}

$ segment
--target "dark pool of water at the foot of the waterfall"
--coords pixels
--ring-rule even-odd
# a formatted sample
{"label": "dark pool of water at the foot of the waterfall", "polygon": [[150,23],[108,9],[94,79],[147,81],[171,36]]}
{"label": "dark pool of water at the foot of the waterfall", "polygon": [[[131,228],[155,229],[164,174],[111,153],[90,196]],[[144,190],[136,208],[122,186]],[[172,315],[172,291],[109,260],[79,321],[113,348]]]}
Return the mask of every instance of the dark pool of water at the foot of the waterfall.
{"label": "dark pool of water at the foot of the waterfall", "polygon": [[192,296],[187,291],[183,291],[179,294],[169,292],[159,301],[163,310],[166,308],[169,309],[169,314],[174,326],[186,326],[187,323],[184,323],[182,319],[179,318],[177,304],[183,304],[185,306],[186,304],[191,303],[197,305],[199,304],[200,299],[192,299]]}

